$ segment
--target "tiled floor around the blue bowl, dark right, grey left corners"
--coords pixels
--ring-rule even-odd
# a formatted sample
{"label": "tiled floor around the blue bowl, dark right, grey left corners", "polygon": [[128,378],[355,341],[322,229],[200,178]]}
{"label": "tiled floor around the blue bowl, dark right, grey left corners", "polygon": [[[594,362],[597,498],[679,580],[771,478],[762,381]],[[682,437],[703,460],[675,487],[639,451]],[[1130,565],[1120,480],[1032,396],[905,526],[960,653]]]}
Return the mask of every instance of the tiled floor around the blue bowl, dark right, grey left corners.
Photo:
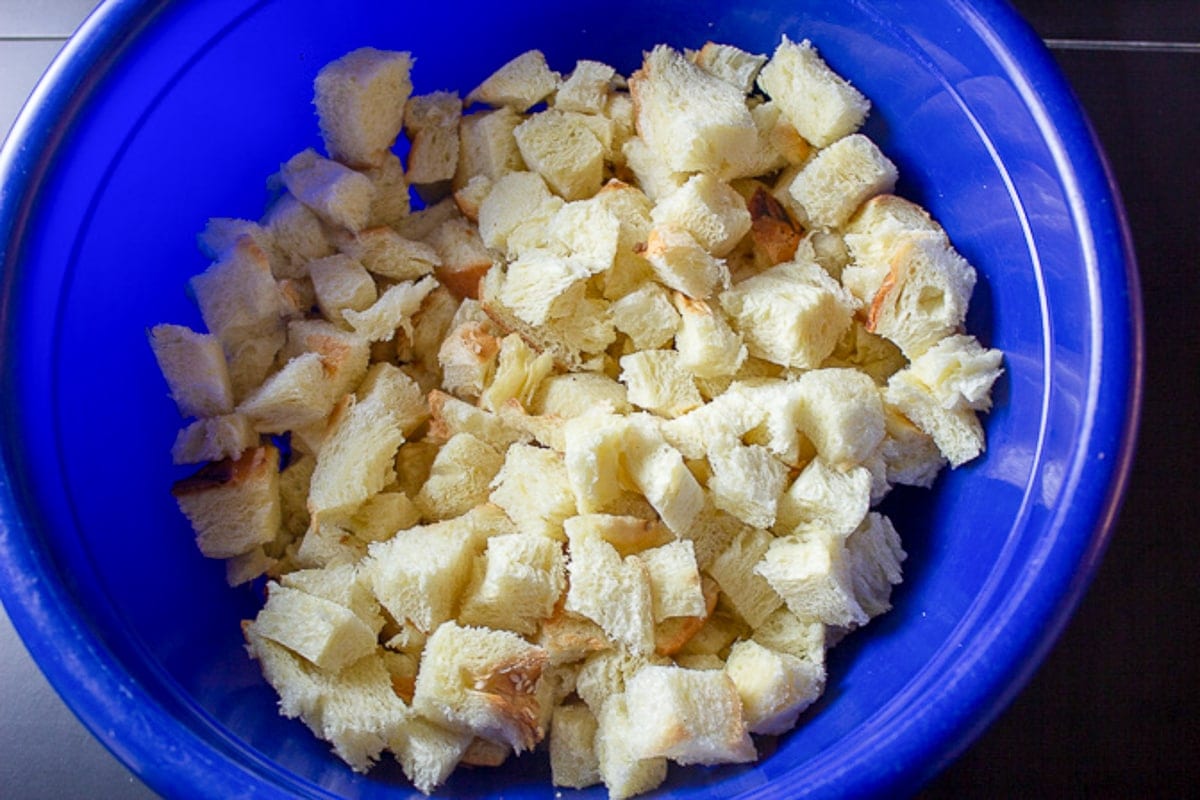
{"label": "tiled floor around the blue bowl, dark right, grey left corners", "polygon": [[[0,130],[91,0],[0,0]],[[925,798],[1186,796],[1200,754],[1200,2],[1020,0],[1124,194],[1147,311],[1141,446],[1108,557],[1012,708]],[[152,796],[62,705],[0,612],[0,796]]]}

